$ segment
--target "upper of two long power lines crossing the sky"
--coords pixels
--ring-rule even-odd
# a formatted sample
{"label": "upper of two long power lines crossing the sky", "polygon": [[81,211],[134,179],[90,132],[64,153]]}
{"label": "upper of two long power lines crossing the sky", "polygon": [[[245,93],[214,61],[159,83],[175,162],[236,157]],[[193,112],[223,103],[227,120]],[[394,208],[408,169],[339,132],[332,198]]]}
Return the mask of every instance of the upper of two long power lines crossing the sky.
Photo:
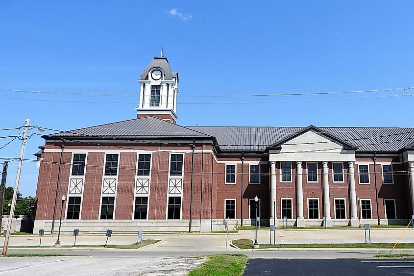
{"label": "upper of two long power lines crossing the sky", "polygon": [[[351,91],[330,91],[330,92],[299,92],[299,93],[270,93],[270,94],[209,94],[209,95],[182,95],[186,98],[210,98],[210,97],[268,97],[268,96],[302,96],[302,95],[331,95],[331,94],[350,94],[350,93],[372,93],[413,90],[414,87],[399,87],[373,90],[351,90]],[[36,91],[18,90],[1,88],[4,92],[33,93],[33,94],[52,94],[52,95],[83,95],[83,96],[115,96],[115,97],[137,97],[137,94],[114,94],[114,93],[90,93],[90,92],[56,92],[56,91]]]}

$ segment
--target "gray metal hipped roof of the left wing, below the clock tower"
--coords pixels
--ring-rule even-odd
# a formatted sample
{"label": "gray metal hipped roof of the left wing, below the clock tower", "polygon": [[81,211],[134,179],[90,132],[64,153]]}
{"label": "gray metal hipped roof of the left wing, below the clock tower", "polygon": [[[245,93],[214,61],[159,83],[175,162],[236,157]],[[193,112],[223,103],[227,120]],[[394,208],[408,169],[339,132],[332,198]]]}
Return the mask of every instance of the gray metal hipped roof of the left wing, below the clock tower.
{"label": "gray metal hipped roof of the left wing, below the clock tower", "polygon": [[213,138],[207,134],[149,116],[105,125],[79,128],[43,137],[149,137],[149,138]]}

